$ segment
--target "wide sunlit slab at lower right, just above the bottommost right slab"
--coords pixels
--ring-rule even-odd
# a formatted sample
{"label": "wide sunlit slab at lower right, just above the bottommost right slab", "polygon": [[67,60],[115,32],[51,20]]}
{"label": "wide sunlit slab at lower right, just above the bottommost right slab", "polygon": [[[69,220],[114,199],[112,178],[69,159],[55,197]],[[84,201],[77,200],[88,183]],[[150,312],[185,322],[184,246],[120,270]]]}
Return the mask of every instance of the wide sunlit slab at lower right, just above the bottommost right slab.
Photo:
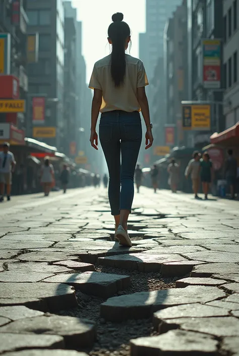
{"label": "wide sunlit slab at lower right, just above the bottommost right slab", "polygon": [[[217,301],[217,300],[216,300]],[[229,310],[212,307],[209,305],[193,303],[183,304],[176,307],[170,307],[159,310],[153,315],[153,325],[158,330],[163,320],[177,318],[203,318],[203,317],[226,317],[229,316]],[[1,330],[1,329],[0,329]]]}

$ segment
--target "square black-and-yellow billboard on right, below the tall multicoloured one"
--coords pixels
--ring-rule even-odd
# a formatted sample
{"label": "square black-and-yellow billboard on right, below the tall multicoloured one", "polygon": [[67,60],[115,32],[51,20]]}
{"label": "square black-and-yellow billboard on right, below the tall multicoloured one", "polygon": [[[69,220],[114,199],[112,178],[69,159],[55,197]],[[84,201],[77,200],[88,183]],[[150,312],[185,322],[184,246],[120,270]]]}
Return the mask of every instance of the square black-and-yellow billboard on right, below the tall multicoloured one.
{"label": "square black-and-yellow billboard on right, below the tall multicoloured one", "polygon": [[[190,103],[190,102],[189,102]],[[184,130],[210,131],[211,129],[211,105],[188,104],[182,102],[182,118]]]}

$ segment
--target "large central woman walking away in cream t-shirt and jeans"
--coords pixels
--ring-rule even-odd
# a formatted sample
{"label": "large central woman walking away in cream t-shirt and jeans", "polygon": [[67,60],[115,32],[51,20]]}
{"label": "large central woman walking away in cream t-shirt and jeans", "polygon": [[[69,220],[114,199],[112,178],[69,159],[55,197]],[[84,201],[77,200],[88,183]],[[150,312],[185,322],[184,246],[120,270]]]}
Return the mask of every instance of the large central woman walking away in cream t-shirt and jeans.
{"label": "large central woman walking away in cream t-shirt and jeans", "polygon": [[[145,86],[148,79],[143,63],[126,55],[131,42],[124,15],[116,13],[108,28],[109,56],[95,63],[89,87],[94,89],[91,115],[92,147],[98,149],[96,122],[101,112],[99,137],[109,171],[109,203],[115,220],[115,237],[132,246],[127,222],[134,197],[134,173],[142,141],[139,112],[146,124],[146,149],[153,143]],[[121,163],[122,162],[122,163]]]}

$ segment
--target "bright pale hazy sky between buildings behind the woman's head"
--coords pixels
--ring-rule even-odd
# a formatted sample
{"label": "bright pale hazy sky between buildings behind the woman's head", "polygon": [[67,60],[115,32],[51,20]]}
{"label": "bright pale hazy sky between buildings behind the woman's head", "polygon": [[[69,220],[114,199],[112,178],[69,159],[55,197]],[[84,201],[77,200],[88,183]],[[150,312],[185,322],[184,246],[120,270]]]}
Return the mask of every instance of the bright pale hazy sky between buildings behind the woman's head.
{"label": "bright pale hazy sky between buildings behind the woman's head", "polygon": [[83,22],[83,56],[89,81],[94,63],[109,54],[107,29],[115,12],[124,14],[132,31],[131,55],[139,56],[139,33],[145,31],[145,0],[72,0]]}

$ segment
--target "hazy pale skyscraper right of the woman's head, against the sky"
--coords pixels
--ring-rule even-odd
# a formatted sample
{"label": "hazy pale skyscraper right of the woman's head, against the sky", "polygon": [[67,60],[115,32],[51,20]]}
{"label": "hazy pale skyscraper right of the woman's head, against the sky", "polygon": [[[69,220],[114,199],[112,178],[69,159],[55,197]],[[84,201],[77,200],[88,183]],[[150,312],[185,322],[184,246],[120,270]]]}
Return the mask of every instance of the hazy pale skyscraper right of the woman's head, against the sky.
{"label": "hazy pale skyscraper right of the woman's head, against the sky", "polygon": [[163,57],[163,30],[169,17],[182,0],[146,0],[146,53],[145,67],[149,80],[153,77],[154,68],[159,57]]}

